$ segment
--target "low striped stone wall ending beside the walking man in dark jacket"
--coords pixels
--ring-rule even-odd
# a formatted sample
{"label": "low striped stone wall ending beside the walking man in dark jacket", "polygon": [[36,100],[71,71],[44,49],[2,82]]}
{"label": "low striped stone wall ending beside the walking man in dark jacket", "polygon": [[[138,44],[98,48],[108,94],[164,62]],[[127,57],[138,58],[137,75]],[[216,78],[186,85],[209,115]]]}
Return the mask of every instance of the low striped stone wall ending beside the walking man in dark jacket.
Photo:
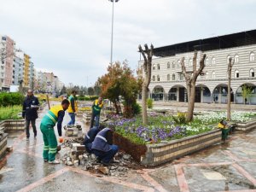
{"label": "low striped stone wall ending beside the walking man in dark jacket", "polygon": [[0,130],[4,132],[9,131],[24,131],[25,129],[25,120],[18,119],[18,120],[3,120],[0,123]]}

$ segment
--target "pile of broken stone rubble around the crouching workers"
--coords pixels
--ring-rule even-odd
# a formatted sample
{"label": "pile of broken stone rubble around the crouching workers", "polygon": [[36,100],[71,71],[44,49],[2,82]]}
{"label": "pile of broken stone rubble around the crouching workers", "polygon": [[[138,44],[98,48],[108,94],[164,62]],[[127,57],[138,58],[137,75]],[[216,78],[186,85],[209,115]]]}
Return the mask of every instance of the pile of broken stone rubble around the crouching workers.
{"label": "pile of broken stone rubble around the crouching workers", "polygon": [[96,159],[95,154],[86,152],[82,143],[82,137],[69,139],[62,143],[61,162],[67,166],[78,166],[84,171],[102,173],[113,177],[125,177],[130,168],[140,168],[137,162],[132,160],[131,155],[124,152],[116,154],[113,162],[110,162],[108,166],[103,166]]}

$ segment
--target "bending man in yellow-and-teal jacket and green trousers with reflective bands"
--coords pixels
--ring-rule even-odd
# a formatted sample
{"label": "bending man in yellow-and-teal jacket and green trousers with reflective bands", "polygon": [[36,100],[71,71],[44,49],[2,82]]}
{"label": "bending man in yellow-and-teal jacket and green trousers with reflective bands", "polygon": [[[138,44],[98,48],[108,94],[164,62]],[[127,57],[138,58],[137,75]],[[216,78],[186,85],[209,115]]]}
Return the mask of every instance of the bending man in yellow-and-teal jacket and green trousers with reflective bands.
{"label": "bending man in yellow-and-teal jacket and green trousers with reflective bands", "polygon": [[57,124],[58,134],[61,137],[61,124],[65,116],[65,111],[69,107],[69,102],[67,99],[64,99],[61,102],[61,105],[55,105],[49,109],[49,112],[44,115],[44,118],[41,121],[40,130],[43,133],[44,138],[44,162],[50,164],[59,164],[60,161],[55,160],[55,154],[57,153],[57,139],[55,136],[55,124]]}

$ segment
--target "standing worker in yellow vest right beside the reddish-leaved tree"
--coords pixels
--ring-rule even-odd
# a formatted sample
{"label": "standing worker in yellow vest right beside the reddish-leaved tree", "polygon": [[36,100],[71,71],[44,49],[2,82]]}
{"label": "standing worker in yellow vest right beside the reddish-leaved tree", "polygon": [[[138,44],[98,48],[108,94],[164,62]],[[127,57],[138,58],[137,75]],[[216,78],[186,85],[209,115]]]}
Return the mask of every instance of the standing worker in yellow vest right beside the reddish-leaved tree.
{"label": "standing worker in yellow vest right beside the reddish-leaved tree", "polygon": [[99,126],[102,108],[103,108],[103,101],[102,101],[102,97],[100,96],[98,99],[96,99],[93,102],[91,106],[90,128],[93,127],[94,120],[95,120],[95,126],[96,127]]}

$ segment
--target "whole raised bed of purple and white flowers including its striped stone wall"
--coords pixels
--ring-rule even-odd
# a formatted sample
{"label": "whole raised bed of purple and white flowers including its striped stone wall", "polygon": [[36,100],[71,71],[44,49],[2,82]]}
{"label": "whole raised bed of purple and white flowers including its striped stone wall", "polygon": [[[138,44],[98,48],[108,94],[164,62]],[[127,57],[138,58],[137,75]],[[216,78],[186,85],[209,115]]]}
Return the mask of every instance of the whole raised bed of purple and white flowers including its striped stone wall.
{"label": "whole raised bed of purple and white flowers including its striped stone wall", "polygon": [[[141,117],[108,118],[112,119],[109,125],[115,127],[115,144],[144,166],[158,166],[219,143],[221,131],[216,128],[224,117],[226,113],[205,113],[196,115],[189,124],[179,125],[175,117],[151,113],[147,126],[143,126]],[[255,113],[235,112],[231,118],[236,123],[250,121]]]}

